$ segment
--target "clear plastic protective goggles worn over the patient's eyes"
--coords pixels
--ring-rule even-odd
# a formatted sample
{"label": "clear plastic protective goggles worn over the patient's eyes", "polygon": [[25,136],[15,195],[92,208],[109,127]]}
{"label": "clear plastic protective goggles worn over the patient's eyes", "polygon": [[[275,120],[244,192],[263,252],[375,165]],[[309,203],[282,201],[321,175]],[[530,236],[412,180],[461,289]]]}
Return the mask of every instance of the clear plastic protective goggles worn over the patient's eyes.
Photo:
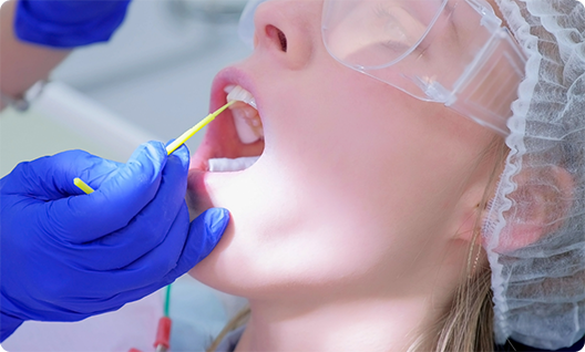
{"label": "clear plastic protective goggles worn over the patient's eyes", "polygon": [[[266,1],[242,13],[249,45]],[[325,0],[321,35],[346,66],[509,134],[526,59],[484,0]]]}

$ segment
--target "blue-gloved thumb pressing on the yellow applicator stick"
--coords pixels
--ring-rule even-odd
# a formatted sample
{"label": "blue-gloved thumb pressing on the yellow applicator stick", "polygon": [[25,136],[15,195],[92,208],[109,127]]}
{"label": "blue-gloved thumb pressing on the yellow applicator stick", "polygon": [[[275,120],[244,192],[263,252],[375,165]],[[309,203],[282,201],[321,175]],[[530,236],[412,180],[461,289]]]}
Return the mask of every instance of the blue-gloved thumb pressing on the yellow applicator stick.
{"label": "blue-gloved thumb pressing on the yellow applicator stick", "polygon": [[[143,144],[91,195],[49,203],[48,228],[65,240],[81,244],[127,226],[156,195],[165,163],[162,143]],[[70,184],[73,186],[72,179]]]}

